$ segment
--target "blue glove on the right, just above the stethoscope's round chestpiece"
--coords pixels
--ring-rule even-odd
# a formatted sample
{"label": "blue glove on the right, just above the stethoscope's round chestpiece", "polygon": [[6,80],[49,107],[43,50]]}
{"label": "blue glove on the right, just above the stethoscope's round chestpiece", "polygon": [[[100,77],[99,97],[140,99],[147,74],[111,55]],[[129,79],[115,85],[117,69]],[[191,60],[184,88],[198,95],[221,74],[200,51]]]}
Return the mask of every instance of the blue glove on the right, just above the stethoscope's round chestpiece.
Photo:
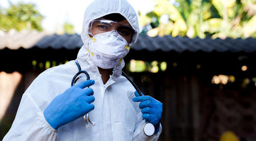
{"label": "blue glove on the right, just above the stethoscope's round chestpiece", "polygon": [[139,96],[137,91],[134,92],[134,102],[140,102],[139,108],[142,112],[143,119],[147,119],[155,127],[156,134],[160,128],[160,119],[163,111],[163,104],[150,96]]}

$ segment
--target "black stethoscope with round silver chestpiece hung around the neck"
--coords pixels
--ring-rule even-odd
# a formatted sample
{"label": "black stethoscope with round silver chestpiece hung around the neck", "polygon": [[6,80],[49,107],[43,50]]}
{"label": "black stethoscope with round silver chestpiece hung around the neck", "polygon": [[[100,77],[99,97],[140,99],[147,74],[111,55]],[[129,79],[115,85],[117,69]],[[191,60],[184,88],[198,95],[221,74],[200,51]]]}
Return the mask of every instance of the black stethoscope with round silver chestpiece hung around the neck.
{"label": "black stethoscope with round silver chestpiece hung around the neck", "polygon": [[[75,60],[76,62],[76,65],[78,67],[78,73],[73,77],[72,79],[72,82],[71,82],[71,86],[75,85],[76,82],[80,79],[80,78],[83,78],[85,76],[79,76],[80,74],[84,74],[86,75],[87,79],[86,80],[90,80],[90,76],[89,74],[86,72],[86,70],[81,70],[81,67],[77,61],[77,59]],[[135,83],[122,71],[122,75],[128,80],[130,81],[130,83],[134,86],[134,88],[137,90],[137,92],[139,93],[139,96],[144,96],[141,91],[139,90],[139,88],[135,85]],[[89,86],[88,86],[89,87]],[[83,115],[83,120],[86,122],[86,128],[89,128],[90,125],[89,123],[92,125],[92,126],[95,126],[95,123],[94,122],[91,122],[90,121],[90,118],[89,118],[89,114],[84,114]],[[145,119],[145,124],[143,125],[143,132],[145,135],[147,136],[152,136],[155,132],[155,127],[152,123],[148,122],[146,119]]]}

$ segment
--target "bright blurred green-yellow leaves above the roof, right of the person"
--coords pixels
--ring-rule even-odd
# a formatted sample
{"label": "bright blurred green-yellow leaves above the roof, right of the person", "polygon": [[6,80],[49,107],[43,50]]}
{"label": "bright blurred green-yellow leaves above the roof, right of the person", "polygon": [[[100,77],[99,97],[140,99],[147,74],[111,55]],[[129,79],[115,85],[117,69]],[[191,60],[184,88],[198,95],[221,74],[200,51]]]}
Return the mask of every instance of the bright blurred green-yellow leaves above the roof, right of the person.
{"label": "bright blurred green-yellow leaves above the roof, right of the person", "polygon": [[[255,0],[176,0],[174,4],[168,0],[153,1],[153,11],[140,14],[142,26],[147,27],[143,33],[150,36],[255,37]],[[169,16],[168,23],[161,22],[162,15]]]}

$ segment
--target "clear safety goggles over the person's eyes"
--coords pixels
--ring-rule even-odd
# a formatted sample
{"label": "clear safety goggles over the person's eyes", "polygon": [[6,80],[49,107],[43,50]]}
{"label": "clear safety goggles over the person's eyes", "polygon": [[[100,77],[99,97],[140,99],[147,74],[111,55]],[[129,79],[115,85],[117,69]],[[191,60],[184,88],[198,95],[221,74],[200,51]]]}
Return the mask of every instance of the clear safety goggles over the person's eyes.
{"label": "clear safety goggles over the person's eyes", "polygon": [[106,20],[106,19],[94,19],[91,21],[88,29],[88,33],[95,36],[99,33],[109,32],[116,30],[119,35],[121,35],[124,39],[132,40],[133,34],[135,30],[123,23]]}

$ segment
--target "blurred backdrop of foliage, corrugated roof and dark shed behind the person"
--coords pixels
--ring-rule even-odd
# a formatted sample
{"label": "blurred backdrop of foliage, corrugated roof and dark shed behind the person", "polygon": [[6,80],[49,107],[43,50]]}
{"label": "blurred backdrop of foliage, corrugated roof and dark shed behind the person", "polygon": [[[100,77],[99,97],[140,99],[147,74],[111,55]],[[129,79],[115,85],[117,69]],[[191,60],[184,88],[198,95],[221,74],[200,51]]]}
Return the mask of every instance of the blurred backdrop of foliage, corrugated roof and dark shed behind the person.
{"label": "blurred backdrop of foliage, corrugated roof and dark shed behind the person", "polygon": [[[76,59],[91,2],[0,1],[1,140],[31,82]],[[256,140],[256,1],[128,2],[140,36],[123,70],[163,103],[159,140]]]}

